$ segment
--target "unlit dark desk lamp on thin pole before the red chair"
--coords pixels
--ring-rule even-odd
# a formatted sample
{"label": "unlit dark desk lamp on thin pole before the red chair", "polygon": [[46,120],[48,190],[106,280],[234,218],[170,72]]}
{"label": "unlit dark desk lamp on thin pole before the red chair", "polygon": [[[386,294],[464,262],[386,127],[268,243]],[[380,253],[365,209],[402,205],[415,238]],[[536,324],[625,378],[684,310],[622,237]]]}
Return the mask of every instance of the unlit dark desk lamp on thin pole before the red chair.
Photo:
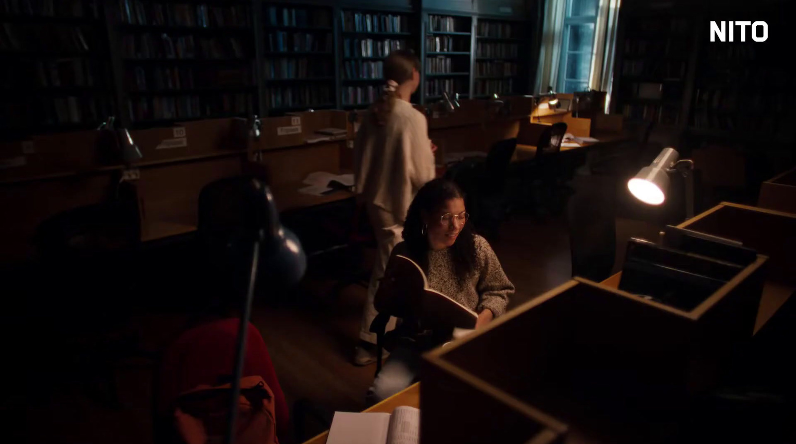
{"label": "unlit dark desk lamp on thin pole before the red chair", "polygon": [[[240,189],[240,225],[232,229],[231,243],[238,246],[251,245],[251,272],[248,289],[240,310],[240,324],[236,344],[235,362],[232,371],[232,394],[228,411],[228,429],[225,444],[232,444],[240,397],[240,378],[243,376],[248,322],[252,315],[252,300],[258,276],[266,277],[280,285],[293,285],[306,271],[306,255],[298,238],[279,223],[271,190],[256,178],[246,179]],[[230,199],[231,201],[234,200]],[[232,247],[234,249],[234,247]],[[271,283],[271,282],[269,282]]]}

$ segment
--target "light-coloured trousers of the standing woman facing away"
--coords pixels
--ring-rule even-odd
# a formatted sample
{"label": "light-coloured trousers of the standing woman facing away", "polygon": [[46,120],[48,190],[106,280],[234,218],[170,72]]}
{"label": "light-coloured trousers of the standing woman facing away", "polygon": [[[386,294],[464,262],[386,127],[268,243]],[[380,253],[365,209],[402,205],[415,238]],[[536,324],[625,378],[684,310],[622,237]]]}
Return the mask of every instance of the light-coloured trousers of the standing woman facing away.
{"label": "light-coloured trousers of the standing woman facing away", "polygon": [[[373,227],[374,235],[377,242],[377,255],[373,263],[373,272],[370,275],[370,283],[368,285],[368,302],[365,303],[365,310],[362,313],[362,325],[360,327],[359,337],[372,344],[376,344],[376,333],[370,333],[370,324],[376,318],[379,312],[373,307],[373,298],[376,296],[376,291],[379,289],[379,279],[384,276],[384,269],[387,268],[387,261],[390,259],[392,247],[403,240],[401,232],[404,231],[404,225],[392,216],[391,212],[384,210],[384,208],[377,207],[373,204],[367,204],[368,217],[370,224]],[[387,329],[390,331],[395,329],[396,318],[390,317],[387,323]]]}

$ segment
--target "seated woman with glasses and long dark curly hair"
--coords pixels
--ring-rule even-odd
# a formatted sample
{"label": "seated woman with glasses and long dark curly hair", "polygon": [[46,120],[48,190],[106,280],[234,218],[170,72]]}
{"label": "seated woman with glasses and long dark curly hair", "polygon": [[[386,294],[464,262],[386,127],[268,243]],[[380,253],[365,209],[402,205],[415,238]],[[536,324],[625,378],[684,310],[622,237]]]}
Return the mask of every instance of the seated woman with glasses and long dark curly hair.
{"label": "seated woman with glasses and long dark curly hair", "polygon": [[[488,324],[505,311],[514,286],[506,277],[497,255],[482,236],[467,224],[468,214],[463,194],[451,181],[434,179],[423,185],[409,206],[404,223],[404,242],[396,245],[390,255],[390,267],[405,256],[426,275],[427,286],[436,293],[458,302],[477,314],[475,329]],[[397,258],[400,259],[400,258]],[[413,298],[393,278],[400,279],[392,269],[386,271],[388,280],[381,283],[376,308],[384,313],[407,314],[406,306]],[[399,286],[392,291],[390,286]],[[434,296],[434,294],[431,294]],[[429,297],[423,294],[420,297]],[[399,308],[401,307],[401,308]],[[420,354],[451,340],[451,328],[435,326],[427,329],[418,317],[408,315],[392,333],[396,343],[371,388],[371,400],[385,399],[407,388],[416,380]]]}

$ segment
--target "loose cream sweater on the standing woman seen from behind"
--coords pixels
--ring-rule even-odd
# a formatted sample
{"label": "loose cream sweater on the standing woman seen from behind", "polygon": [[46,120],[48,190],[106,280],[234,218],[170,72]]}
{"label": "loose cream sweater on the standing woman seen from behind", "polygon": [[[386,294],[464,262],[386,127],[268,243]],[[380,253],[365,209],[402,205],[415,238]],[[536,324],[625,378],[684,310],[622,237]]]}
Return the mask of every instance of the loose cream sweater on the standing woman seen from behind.
{"label": "loose cream sweater on the standing woman seen from behind", "polygon": [[417,190],[435,177],[426,116],[396,99],[384,126],[365,115],[353,150],[355,191],[403,224]]}

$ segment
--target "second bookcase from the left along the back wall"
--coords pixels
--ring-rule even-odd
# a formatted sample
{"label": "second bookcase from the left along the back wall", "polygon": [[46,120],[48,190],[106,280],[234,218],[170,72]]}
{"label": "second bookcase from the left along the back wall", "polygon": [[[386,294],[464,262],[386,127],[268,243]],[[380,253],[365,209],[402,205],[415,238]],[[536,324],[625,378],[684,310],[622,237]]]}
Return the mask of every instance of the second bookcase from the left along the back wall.
{"label": "second bookcase from the left along the back wall", "polygon": [[253,112],[249,3],[120,0],[115,5],[122,112],[133,127]]}

